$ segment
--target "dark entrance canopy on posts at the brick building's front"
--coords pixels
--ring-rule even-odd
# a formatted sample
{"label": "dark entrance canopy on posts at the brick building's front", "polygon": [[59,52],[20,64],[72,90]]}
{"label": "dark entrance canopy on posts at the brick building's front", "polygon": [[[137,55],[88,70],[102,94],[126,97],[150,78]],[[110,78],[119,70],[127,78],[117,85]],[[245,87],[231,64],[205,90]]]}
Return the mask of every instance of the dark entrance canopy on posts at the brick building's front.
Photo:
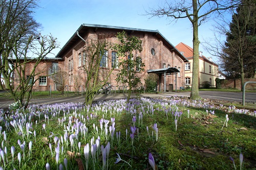
{"label": "dark entrance canopy on posts at the brick building's front", "polygon": [[[149,69],[147,70],[147,73],[155,73],[159,77],[161,75],[164,75],[164,92],[166,92],[166,75],[174,75],[175,74],[175,90],[177,91],[177,72],[180,72],[175,67],[169,67],[169,68],[160,68],[160,69]],[[159,91],[161,91],[161,79],[159,79]]]}

